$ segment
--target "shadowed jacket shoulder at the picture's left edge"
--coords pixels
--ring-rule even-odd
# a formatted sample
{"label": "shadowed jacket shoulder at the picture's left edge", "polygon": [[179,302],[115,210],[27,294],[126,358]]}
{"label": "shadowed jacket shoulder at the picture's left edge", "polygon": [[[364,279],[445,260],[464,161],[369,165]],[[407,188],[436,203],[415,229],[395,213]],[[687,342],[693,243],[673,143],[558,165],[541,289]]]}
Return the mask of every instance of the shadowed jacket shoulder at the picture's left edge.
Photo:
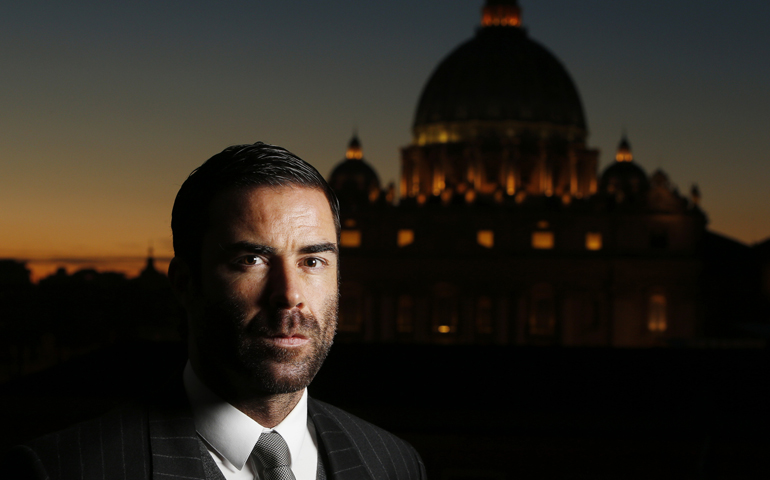
{"label": "shadowed jacket shoulder at the picture's left edge", "polygon": [[149,478],[147,432],[146,410],[126,407],[16,446],[1,468],[10,478]]}

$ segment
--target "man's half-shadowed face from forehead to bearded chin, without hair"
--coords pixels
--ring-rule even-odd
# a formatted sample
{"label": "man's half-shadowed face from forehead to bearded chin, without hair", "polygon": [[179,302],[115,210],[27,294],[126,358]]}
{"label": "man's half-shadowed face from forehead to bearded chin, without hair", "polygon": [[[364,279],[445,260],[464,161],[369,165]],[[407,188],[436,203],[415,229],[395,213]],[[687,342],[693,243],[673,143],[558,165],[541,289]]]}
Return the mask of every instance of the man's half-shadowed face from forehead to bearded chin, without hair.
{"label": "man's half-shadowed face from forehead to bearded chin, without hair", "polygon": [[337,234],[321,190],[256,187],[211,204],[186,301],[200,368],[264,393],[301,390],[337,326]]}

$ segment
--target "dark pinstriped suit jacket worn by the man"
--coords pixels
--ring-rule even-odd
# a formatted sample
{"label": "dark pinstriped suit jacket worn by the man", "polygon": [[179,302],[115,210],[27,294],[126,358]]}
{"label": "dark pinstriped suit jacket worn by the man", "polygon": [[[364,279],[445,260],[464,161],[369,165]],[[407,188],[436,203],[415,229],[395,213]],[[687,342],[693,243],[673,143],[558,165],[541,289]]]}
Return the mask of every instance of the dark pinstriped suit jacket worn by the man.
{"label": "dark pinstriped suit jacket worn by the man", "polygon": [[[424,479],[411,445],[343,410],[314,399],[326,478]],[[7,477],[6,477],[7,475]],[[130,407],[47,435],[8,452],[0,476],[51,480],[206,480],[189,408]]]}

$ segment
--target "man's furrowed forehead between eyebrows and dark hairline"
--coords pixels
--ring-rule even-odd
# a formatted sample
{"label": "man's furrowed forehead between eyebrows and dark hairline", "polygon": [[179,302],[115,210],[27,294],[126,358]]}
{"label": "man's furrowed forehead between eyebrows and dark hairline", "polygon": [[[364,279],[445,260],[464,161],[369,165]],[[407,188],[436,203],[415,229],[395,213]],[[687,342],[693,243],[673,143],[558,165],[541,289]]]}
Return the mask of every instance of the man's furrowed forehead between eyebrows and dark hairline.
{"label": "man's furrowed forehead between eyebrows and dark hairline", "polygon": [[209,232],[313,230],[336,238],[334,219],[324,192],[302,186],[259,186],[217,195],[208,211]]}

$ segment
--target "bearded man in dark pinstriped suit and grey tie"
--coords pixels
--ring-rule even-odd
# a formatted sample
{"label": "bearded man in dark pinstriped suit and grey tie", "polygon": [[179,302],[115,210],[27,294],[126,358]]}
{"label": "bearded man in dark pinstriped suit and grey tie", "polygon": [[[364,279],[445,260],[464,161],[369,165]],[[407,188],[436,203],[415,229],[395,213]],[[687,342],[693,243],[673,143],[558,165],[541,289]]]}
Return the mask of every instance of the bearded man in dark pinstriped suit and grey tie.
{"label": "bearded man in dark pinstriped suit and grey tie", "polygon": [[409,444],[307,395],[339,295],[339,207],[312,166],[230,147],[190,174],[171,226],[183,391],[16,447],[0,476],[425,478]]}

